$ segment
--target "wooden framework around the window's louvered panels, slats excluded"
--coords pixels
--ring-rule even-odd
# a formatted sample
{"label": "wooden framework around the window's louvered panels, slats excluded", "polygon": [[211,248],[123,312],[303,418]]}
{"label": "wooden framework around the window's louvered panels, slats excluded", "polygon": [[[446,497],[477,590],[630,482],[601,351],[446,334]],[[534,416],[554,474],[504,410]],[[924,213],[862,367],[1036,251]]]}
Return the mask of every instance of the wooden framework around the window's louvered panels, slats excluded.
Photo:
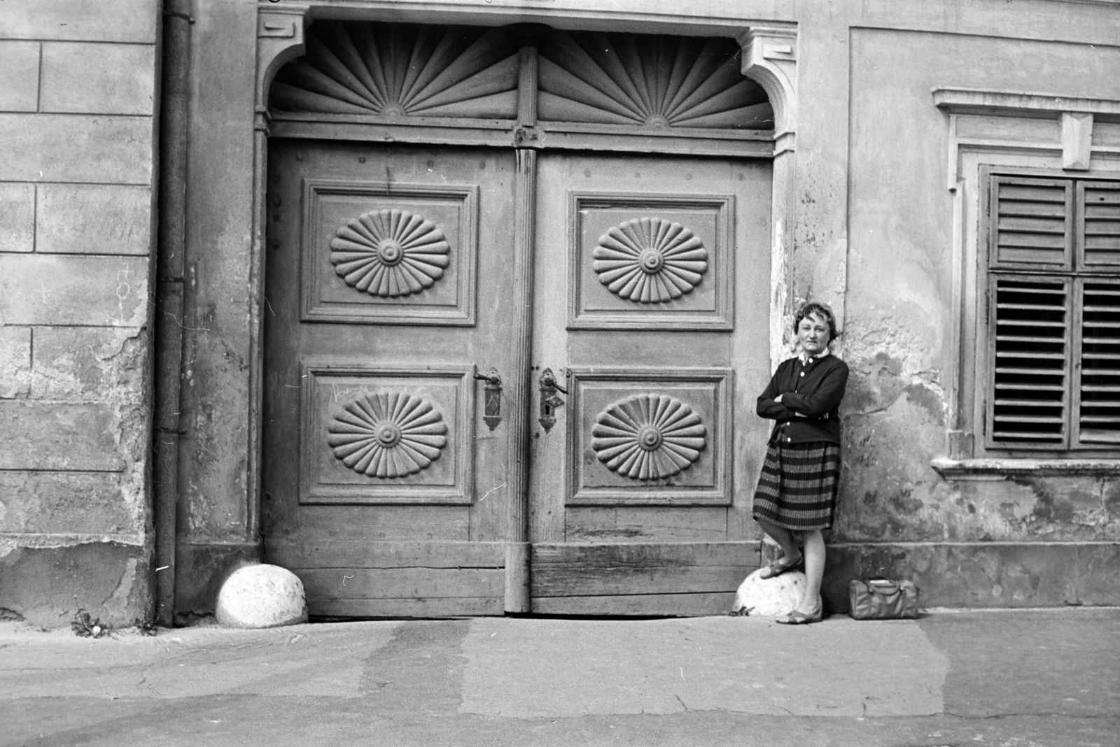
{"label": "wooden framework around the window's louvered panels, slats excluded", "polygon": [[[1033,169],[1023,167],[1001,167],[982,164],[980,167],[982,206],[979,227],[981,239],[977,262],[978,305],[976,360],[982,369],[977,371],[974,393],[979,401],[977,415],[981,422],[977,445],[991,457],[1029,457],[1029,458],[1094,458],[1120,456],[1120,441],[1102,443],[1081,441],[1081,394],[1082,394],[1082,343],[1084,338],[1083,299],[1086,282],[1120,285],[1120,264],[1086,265],[1085,264],[1085,210],[1084,192],[1091,182],[1112,182],[1120,186],[1120,173],[1077,172],[1070,173],[1057,169]],[[997,256],[999,215],[999,185],[1005,183],[1038,183],[1048,180],[1052,185],[1066,186],[1065,199],[1065,257],[1061,265],[1056,263],[1028,263],[1002,259]],[[997,333],[997,294],[996,286],[1000,278],[1010,280],[1060,280],[1065,286],[1065,366],[1063,391],[1063,445],[1054,443],[1008,443],[995,439],[995,400],[996,400],[996,333]],[[1118,415],[1120,420],[1120,415]]]}

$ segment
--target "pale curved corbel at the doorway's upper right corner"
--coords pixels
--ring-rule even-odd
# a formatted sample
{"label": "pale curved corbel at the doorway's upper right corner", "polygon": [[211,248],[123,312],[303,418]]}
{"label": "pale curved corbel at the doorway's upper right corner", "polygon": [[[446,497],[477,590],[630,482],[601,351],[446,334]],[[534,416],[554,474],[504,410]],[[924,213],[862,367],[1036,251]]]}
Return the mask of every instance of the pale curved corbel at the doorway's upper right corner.
{"label": "pale curved corbel at the doorway's upper right corner", "polygon": [[774,107],[774,154],[793,150],[797,127],[797,30],[752,26],[739,35],[743,74],[757,83]]}

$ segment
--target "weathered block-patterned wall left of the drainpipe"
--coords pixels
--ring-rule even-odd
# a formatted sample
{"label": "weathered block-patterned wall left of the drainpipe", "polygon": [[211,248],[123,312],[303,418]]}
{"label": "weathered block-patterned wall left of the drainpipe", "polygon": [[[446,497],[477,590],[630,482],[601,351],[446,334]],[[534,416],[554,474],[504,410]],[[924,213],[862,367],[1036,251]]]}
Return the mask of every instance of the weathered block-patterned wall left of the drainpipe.
{"label": "weathered block-patterned wall left of the drainpipe", "polygon": [[0,616],[150,613],[158,0],[0,3]]}

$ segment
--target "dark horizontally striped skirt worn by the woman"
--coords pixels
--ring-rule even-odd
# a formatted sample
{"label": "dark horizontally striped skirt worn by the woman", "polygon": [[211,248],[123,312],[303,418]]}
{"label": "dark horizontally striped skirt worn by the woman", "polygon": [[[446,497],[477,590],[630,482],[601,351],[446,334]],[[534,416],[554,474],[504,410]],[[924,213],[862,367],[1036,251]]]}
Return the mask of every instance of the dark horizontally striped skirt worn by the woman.
{"label": "dark horizontally striped skirt worn by the woman", "polygon": [[830,529],[839,488],[839,444],[771,444],[758,476],[754,517],[794,531]]}

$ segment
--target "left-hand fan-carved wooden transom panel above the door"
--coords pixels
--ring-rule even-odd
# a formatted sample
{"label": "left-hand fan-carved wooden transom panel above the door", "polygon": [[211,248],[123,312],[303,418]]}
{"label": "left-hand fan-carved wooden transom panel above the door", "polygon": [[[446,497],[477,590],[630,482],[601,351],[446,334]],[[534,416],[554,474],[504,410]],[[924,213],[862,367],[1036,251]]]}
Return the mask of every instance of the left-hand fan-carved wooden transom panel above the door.
{"label": "left-hand fan-carved wooden transom panel above the door", "polygon": [[502,29],[321,21],[277,74],[283,112],[512,119],[517,49]]}

